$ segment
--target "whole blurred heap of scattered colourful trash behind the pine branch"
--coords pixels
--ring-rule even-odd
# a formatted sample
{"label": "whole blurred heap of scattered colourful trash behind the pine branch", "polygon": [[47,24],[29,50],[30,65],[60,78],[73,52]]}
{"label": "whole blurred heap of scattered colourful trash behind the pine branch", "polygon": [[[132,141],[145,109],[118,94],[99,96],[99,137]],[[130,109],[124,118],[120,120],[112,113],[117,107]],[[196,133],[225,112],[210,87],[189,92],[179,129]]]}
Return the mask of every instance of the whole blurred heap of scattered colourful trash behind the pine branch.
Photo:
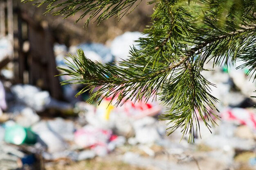
{"label": "whole blurred heap of scattered colourful trash behind the pine branch", "polygon": [[[76,54],[78,48],[89,59],[101,63],[119,61],[119,57],[126,59],[127,47],[139,36],[138,32],[127,32],[116,37],[110,48],[90,43],[67,49],[56,44],[56,63],[66,67],[67,53]],[[0,39],[0,51],[8,49],[3,41],[6,40]],[[210,63],[206,67],[211,67]],[[7,72],[3,69],[0,74],[7,76]],[[242,166],[254,169],[256,100],[250,96],[255,95],[255,82],[249,81],[247,72],[247,69],[236,70],[235,66],[203,72],[218,87],[212,87],[212,94],[220,99],[216,105],[221,120],[216,119],[218,126],[211,129],[212,134],[200,126],[202,139],[194,144],[188,144],[186,135],[182,138],[179,129],[166,136],[167,122],[157,120],[165,108],[157,101],[128,100],[122,107],[114,107],[105,98],[100,105],[88,105],[86,94],[74,98],[81,88],[79,85],[65,85],[66,102],[63,102],[38,87],[3,81],[0,83],[0,169],[38,170],[43,169],[45,162],[104,157],[116,148],[122,150],[121,160],[126,163],[160,170],[197,170],[198,166],[207,170]],[[67,79],[61,76],[62,81]],[[39,116],[50,109],[60,111],[65,119]],[[132,147],[136,149],[128,149]]]}

